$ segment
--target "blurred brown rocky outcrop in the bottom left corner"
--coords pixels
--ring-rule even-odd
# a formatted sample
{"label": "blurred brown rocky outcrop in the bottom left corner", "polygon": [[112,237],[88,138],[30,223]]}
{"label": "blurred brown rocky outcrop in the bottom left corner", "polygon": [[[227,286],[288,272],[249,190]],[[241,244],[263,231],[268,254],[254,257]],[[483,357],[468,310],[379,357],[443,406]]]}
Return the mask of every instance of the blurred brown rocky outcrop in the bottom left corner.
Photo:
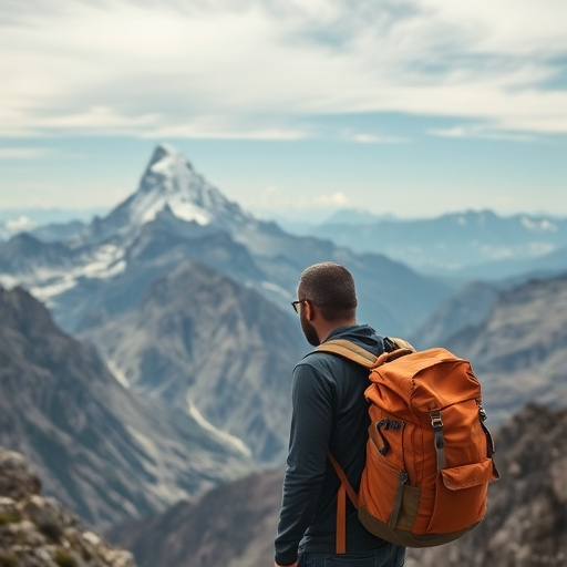
{"label": "blurred brown rocky outcrop in the bottom left corner", "polygon": [[130,551],[106,543],[55,499],[20,453],[0,447],[0,565],[135,567]]}

